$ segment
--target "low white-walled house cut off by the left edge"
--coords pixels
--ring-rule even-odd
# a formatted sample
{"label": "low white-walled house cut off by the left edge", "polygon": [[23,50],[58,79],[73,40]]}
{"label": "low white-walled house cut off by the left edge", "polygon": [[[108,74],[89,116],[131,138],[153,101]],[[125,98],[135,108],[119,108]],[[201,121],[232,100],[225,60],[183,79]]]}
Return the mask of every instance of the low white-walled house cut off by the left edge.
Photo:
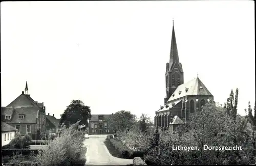
{"label": "low white-walled house cut off by the left edge", "polygon": [[2,146],[7,145],[14,138],[16,129],[11,125],[2,122]]}

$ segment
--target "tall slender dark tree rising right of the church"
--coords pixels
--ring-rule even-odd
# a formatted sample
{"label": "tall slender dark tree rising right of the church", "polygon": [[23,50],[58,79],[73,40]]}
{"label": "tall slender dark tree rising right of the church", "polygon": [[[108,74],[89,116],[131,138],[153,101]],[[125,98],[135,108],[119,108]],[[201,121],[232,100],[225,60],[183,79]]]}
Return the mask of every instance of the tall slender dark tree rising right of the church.
{"label": "tall slender dark tree rising right of the church", "polygon": [[237,107],[238,107],[238,88],[236,89],[236,94],[234,96],[233,90],[231,90],[229,94],[229,98],[227,98],[227,102],[224,105],[226,108],[227,115],[231,116],[234,120],[237,118]]}

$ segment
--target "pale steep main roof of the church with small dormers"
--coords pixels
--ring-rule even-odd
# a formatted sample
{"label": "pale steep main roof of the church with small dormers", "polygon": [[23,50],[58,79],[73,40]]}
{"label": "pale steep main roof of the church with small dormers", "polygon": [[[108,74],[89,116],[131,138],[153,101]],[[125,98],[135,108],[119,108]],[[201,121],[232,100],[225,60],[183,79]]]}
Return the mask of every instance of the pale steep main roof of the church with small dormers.
{"label": "pale steep main roof of the church with small dormers", "polygon": [[209,95],[212,94],[207,90],[203,82],[197,77],[193,78],[190,81],[180,85],[170,96],[167,103],[172,102],[173,100],[192,95]]}

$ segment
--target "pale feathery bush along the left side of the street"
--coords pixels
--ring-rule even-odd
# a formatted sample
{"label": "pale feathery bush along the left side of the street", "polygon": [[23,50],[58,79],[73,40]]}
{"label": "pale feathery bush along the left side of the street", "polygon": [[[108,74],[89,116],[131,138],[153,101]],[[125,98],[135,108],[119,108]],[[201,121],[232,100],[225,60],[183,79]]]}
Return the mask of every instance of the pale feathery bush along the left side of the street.
{"label": "pale feathery bush along the left side of the street", "polygon": [[61,126],[61,135],[48,141],[47,148],[39,150],[36,161],[40,165],[74,165],[84,157],[84,131],[78,131],[79,121],[71,127]]}

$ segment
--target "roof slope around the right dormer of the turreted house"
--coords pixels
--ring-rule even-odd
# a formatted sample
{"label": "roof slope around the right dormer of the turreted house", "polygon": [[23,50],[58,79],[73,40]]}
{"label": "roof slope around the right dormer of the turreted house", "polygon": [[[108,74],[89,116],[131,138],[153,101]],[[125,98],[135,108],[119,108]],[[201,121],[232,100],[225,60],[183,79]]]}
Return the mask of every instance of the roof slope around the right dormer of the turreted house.
{"label": "roof slope around the right dormer of the turreted house", "polygon": [[[38,108],[36,107],[21,107],[15,108],[11,123],[36,123]],[[24,119],[18,119],[18,115],[25,115]]]}

